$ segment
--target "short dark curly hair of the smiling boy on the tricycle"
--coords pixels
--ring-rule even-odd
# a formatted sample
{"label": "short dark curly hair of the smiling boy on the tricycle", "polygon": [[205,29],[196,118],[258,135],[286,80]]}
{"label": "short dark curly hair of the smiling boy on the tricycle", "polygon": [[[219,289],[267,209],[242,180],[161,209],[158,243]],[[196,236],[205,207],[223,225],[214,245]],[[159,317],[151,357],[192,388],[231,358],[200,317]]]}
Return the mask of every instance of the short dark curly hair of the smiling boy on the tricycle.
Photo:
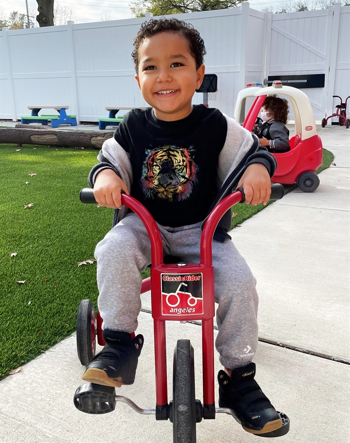
{"label": "short dark curly hair of the smiling boy on the tricycle", "polygon": [[151,19],[149,22],[144,22],[141,25],[140,31],[137,33],[134,40],[135,49],[131,55],[134,59],[136,73],[139,69],[139,48],[142,42],[146,38],[164,31],[179,32],[188,42],[190,52],[196,60],[196,69],[203,64],[204,55],[206,54],[204,40],[190,23],[175,18],[161,18],[159,20]]}

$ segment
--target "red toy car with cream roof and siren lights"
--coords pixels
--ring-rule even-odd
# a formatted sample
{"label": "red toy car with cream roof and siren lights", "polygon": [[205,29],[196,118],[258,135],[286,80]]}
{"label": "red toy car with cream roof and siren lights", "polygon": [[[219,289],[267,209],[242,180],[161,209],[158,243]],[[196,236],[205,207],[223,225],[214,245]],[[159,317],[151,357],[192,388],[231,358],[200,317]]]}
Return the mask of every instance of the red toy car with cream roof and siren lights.
{"label": "red toy car with cream roof and siren lights", "polygon": [[[234,108],[235,121],[251,132],[266,96],[286,95],[294,111],[295,135],[289,141],[290,151],[272,154],[276,158],[277,169],[271,181],[283,185],[292,185],[296,182],[303,192],[313,192],[320,184],[315,171],[322,164],[322,142],[316,133],[315,117],[307,95],[299,89],[284,86],[277,80],[267,88],[255,85],[252,83],[251,86],[247,85],[247,88],[239,91]],[[247,97],[256,98],[245,117]]]}

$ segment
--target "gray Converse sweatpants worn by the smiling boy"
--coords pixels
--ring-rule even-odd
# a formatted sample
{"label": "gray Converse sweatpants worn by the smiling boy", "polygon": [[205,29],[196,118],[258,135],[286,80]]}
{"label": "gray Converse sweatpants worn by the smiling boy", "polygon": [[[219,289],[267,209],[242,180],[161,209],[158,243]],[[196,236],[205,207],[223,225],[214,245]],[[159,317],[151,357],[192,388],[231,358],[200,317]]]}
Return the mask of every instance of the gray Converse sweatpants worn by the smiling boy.
{"label": "gray Converse sweatpants worn by the smiling boy", "polygon": [[[165,255],[200,262],[200,223],[158,226]],[[256,280],[231,240],[213,242],[212,250],[215,302],[219,305],[215,346],[221,364],[233,369],[250,363],[258,346]],[[103,329],[134,332],[141,310],[140,271],[151,262],[150,240],[139,217],[129,214],[111,229],[97,244],[95,258]]]}

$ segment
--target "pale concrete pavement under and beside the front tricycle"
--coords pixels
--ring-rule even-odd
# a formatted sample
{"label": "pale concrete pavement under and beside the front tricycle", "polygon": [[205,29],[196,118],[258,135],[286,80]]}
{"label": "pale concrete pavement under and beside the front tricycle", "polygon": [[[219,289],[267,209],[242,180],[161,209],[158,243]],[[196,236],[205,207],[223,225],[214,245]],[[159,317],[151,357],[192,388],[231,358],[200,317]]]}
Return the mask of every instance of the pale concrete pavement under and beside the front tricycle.
{"label": "pale concrete pavement under and beside the front tricycle", "polygon": [[[335,165],[320,174],[320,187],[310,194],[296,189],[232,231],[258,280],[260,337],[271,344],[260,342],[257,380],[273,405],[291,419],[289,434],[279,440],[283,443],[350,439],[350,130],[333,126],[318,132],[335,155]],[[148,308],[146,294],[143,309]],[[136,382],[117,394],[154,409],[151,315],[142,312],[139,323],[145,347]],[[179,338],[191,339],[195,348],[196,397],[201,398],[200,326],[177,322],[167,323],[169,397]],[[215,366],[218,371],[217,357]],[[72,336],[1,380],[1,443],[172,442],[170,422],[156,422],[124,404],[101,416],[77,411],[72,399],[83,370]],[[197,425],[198,443],[254,441],[259,438],[224,414]]]}

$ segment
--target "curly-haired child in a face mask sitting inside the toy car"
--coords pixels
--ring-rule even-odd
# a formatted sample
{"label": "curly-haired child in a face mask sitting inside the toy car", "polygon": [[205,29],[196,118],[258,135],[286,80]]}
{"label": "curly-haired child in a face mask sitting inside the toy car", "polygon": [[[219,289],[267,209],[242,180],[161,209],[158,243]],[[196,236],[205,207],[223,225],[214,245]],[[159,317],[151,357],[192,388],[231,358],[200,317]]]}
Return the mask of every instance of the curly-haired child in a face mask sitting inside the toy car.
{"label": "curly-haired child in a face mask sitting inside the toy car", "polygon": [[261,146],[274,153],[291,150],[289,144],[289,130],[285,126],[288,119],[288,101],[276,95],[268,95],[262,104],[260,113],[262,125],[255,125],[256,133]]}

